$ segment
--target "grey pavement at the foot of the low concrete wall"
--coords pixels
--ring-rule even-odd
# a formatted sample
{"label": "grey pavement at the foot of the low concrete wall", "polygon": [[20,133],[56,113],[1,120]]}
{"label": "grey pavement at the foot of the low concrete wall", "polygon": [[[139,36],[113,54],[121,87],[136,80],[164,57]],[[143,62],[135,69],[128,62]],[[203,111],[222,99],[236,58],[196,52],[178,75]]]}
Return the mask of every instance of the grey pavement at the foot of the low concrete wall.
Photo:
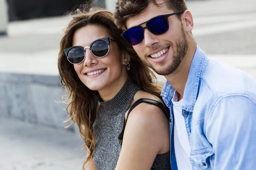
{"label": "grey pavement at the foot of the low concrete wall", "polygon": [[0,117],[0,170],[81,170],[78,134]]}

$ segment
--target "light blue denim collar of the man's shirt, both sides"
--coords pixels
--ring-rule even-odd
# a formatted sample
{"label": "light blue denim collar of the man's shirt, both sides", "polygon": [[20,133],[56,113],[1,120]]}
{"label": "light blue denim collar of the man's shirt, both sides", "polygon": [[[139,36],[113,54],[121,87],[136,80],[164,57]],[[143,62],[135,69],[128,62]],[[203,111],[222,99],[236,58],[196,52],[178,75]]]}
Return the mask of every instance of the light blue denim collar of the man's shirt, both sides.
{"label": "light blue denim collar of the man's shirt, both sides", "polygon": [[[205,53],[198,46],[189,70],[189,76],[186,82],[182,109],[193,112],[195,102],[198,96],[198,89],[200,86],[200,77],[204,69]],[[172,97],[174,96],[175,89],[166,81],[161,96],[167,106],[170,105]]]}

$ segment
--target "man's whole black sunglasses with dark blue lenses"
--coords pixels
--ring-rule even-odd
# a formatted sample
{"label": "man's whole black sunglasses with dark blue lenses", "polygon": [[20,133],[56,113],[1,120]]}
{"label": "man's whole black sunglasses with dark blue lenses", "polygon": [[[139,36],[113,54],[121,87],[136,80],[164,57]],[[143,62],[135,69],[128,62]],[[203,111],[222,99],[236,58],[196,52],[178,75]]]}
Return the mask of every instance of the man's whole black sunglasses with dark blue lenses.
{"label": "man's whole black sunglasses with dark blue lenses", "polygon": [[157,17],[151,18],[150,20],[145,22],[146,23],[145,27],[140,26],[144,24],[144,23],[141,23],[139,26],[134,26],[127,29],[121,34],[121,36],[131,45],[140,44],[140,42],[142,42],[144,39],[145,28],[148,28],[148,31],[150,31],[152,34],[155,34],[155,35],[163,34],[169,29],[168,17],[175,14],[181,14],[183,12],[184,11],[178,11],[172,14],[159,15]]}

